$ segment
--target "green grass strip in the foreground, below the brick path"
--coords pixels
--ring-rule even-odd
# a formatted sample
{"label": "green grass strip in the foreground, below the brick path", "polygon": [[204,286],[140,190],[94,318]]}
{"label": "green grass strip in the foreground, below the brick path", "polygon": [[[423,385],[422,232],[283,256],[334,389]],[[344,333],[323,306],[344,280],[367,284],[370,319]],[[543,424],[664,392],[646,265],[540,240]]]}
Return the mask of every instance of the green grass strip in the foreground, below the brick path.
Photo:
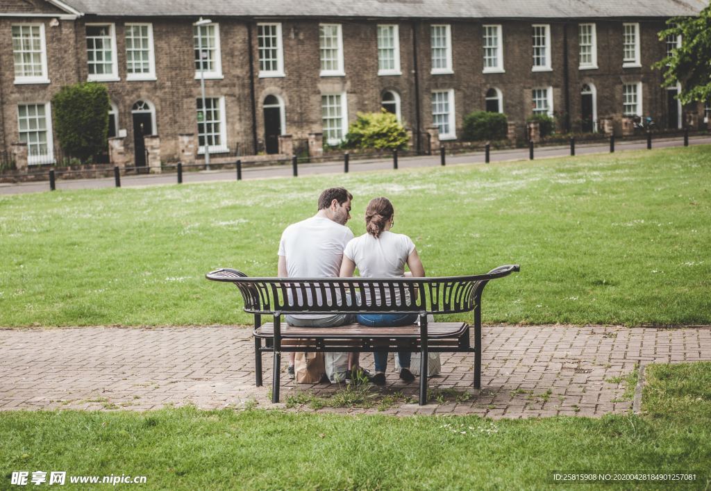
{"label": "green grass strip in the foreground, below the brick path", "polygon": [[[146,490],[560,489],[553,471],[688,472],[697,477],[685,484],[586,486],[709,489],[711,364],[648,366],[646,374],[643,416],[599,419],[11,411],[0,418],[0,488],[13,471],[64,470],[145,475]],[[572,487],[579,484],[562,486]]]}

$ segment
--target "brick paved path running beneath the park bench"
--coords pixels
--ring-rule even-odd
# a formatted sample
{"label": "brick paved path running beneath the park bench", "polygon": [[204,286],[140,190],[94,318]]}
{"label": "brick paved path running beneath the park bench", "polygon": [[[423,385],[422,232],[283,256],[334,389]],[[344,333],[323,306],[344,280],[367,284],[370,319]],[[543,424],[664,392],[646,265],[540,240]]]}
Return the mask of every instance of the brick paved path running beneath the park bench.
{"label": "brick paved path running beneath the park bench", "polygon": [[[637,363],[711,360],[711,327],[491,326],[483,329],[483,346],[481,391],[471,387],[473,355],[443,354],[442,374],[430,386],[456,389],[459,396],[424,407],[400,401],[384,412],[521,418],[628,411],[631,401],[621,399],[619,377]],[[250,329],[228,326],[0,329],[0,409],[221,408],[247,401],[271,407],[269,389],[254,385],[253,347]],[[264,355],[265,384],[271,361]],[[364,366],[372,369],[372,363],[370,354],[363,355]],[[416,396],[416,383],[402,384],[390,373],[388,379],[383,394]],[[296,391],[337,389],[296,388],[284,380],[282,401]]]}

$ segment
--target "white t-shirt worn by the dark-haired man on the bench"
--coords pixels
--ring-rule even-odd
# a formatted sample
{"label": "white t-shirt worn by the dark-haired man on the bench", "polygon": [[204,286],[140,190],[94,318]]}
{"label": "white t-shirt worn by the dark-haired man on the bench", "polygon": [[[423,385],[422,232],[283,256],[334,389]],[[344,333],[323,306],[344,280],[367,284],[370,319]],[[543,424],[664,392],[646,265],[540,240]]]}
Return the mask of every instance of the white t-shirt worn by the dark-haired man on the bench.
{"label": "white t-shirt worn by the dark-haired man on the bench", "polygon": [[[353,232],[350,228],[328,218],[312,216],[289,225],[284,230],[282,240],[279,241],[279,255],[287,258],[289,278],[335,278],[341,271],[343,249],[352,238]],[[310,300],[310,290],[306,293]],[[329,292],[326,293],[330,302]],[[301,292],[297,290],[297,294],[300,301]],[[317,301],[321,302],[321,292],[317,290],[316,295]]]}

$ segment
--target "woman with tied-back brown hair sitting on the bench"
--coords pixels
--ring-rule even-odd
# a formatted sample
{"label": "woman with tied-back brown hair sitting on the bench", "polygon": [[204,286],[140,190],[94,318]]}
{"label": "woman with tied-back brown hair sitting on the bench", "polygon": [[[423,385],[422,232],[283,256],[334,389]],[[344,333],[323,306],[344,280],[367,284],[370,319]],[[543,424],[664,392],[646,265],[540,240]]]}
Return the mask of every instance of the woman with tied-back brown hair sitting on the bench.
{"label": "woman with tied-back brown hair sitting on the bench", "polygon": [[[341,263],[341,278],[353,276],[358,268],[363,278],[402,278],[404,276],[424,277],[422,261],[419,260],[415,244],[410,237],[401,233],[392,233],[390,228],[395,225],[395,211],[387,198],[371,199],[365,210],[365,229],[360,237],[353,238],[343,251]],[[411,273],[405,273],[405,264]],[[405,302],[409,303],[408,291],[405,291]],[[400,292],[395,292],[399,301]],[[390,292],[385,292],[386,300],[390,300]],[[375,300],[370,299],[370,292],[365,291],[365,302],[380,302],[380,293],[375,291]],[[371,304],[372,305],[372,304]],[[417,321],[417,313],[412,314],[365,314],[358,315],[358,322],[369,327],[406,326]],[[357,356],[357,355],[356,355]],[[375,375],[370,379],[373,384],[385,384],[385,369],[387,368],[387,353],[375,352]],[[415,380],[410,371],[410,352],[397,352],[402,369],[400,379],[407,382]],[[358,361],[354,361],[357,365]]]}

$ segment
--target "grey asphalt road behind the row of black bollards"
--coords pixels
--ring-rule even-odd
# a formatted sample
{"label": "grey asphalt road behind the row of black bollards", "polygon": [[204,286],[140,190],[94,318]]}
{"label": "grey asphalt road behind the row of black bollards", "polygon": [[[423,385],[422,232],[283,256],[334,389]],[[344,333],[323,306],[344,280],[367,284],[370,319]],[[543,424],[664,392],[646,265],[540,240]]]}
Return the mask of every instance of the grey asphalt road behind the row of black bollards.
{"label": "grey asphalt road behind the row of black bollards", "polygon": [[[711,144],[711,137],[690,137],[690,145]],[[675,137],[668,139],[655,139],[653,148],[681,147],[683,138]],[[639,150],[646,148],[645,140],[634,142],[616,142],[615,152],[625,152],[627,150]],[[577,155],[608,153],[609,144],[581,144],[575,146]],[[552,157],[565,157],[570,155],[570,147],[540,147],[535,149],[535,159],[547,159]],[[491,151],[491,162],[514,162],[528,160],[528,148],[506,149]],[[451,164],[483,164],[483,152],[447,155],[447,165]],[[398,167],[400,169],[412,169],[415,167],[436,167],[440,165],[439,154],[422,157],[400,157]],[[392,159],[378,160],[351,160],[349,171],[364,172],[378,169],[392,169]],[[343,173],[343,162],[323,162],[319,164],[299,164],[299,176],[309,176],[314,174],[341,174]],[[242,169],[242,179],[269,179],[278,177],[291,177],[291,164],[272,165],[266,167],[245,167]],[[218,171],[191,171],[183,172],[183,184],[209,181],[233,181],[236,179],[235,169]],[[156,186],[159,184],[176,184],[176,173],[167,174],[141,174],[139,176],[121,176],[122,187]],[[99,179],[57,179],[56,188],[61,189],[100,189],[114,186],[114,178]],[[20,184],[0,184],[0,194],[24,194],[49,191],[48,181],[26,182]]]}

